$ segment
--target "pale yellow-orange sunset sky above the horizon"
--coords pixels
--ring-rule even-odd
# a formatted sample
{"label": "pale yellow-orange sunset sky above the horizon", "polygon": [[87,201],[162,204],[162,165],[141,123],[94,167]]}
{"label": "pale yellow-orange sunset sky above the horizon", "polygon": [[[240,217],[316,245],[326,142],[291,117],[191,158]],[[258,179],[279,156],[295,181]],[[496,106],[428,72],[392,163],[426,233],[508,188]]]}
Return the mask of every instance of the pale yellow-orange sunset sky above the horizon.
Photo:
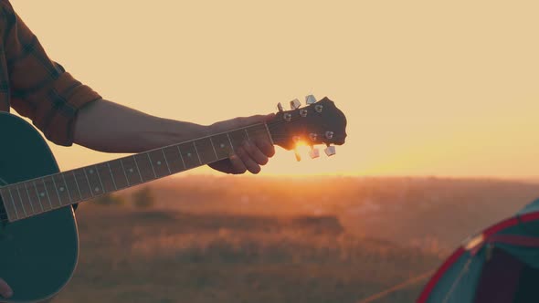
{"label": "pale yellow-orange sunset sky above the horizon", "polygon": [[[49,57],[137,110],[211,123],[312,93],[346,113],[335,157],[278,151],[263,173],[539,175],[536,1],[12,4]],[[120,156],[52,149],[63,170]]]}

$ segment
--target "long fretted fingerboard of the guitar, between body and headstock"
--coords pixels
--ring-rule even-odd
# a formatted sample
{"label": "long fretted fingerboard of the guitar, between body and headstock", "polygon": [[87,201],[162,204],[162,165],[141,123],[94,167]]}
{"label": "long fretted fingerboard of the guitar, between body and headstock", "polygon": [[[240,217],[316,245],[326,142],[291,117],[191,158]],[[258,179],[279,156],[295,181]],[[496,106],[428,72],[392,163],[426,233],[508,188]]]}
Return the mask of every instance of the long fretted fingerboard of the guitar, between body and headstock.
{"label": "long fretted fingerboard of the guitar, between body and headstock", "polygon": [[243,141],[268,136],[265,123],[0,187],[10,222],[227,159]]}

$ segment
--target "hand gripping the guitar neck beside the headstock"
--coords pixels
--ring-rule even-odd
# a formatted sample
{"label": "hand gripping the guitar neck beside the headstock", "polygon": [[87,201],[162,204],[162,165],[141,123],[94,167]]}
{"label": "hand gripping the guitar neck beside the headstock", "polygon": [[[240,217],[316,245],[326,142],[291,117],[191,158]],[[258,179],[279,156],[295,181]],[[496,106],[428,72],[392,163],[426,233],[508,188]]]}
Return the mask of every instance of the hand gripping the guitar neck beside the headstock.
{"label": "hand gripping the guitar neck beside the headstock", "polygon": [[[209,128],[212,133],[232,131],[271,120],[273,117],[274,114],[270,114],[224,120],[210,125]],[[268,133],[263,133],[259,136],[250,137],[240,147],[235,147],[236,153],[231,155],[230,158],[208,164],[208,166],[219,172],[244,173],[249,171],[259,173],[260,165],[265,165],[275,153],[268,136]]]}

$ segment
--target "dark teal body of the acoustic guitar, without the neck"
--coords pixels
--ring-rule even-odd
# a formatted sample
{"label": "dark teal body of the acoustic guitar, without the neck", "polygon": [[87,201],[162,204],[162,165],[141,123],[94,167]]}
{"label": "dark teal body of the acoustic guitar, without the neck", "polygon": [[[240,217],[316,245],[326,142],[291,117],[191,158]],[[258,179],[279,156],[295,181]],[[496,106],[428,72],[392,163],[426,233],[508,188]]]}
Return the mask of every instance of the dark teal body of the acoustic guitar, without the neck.
{"label": "dark teal body of the acoustic guitar, without the neck", "polygon": [[[0,112],[0,185],[58,172],[47,143],[32,125]],[[20,193],[26,194],[26,193]],[[5,213],[0,204],[0,214]],[[53,297],[73,275],[79,235],[71,206],[0,224],[0,277],[14,296],[1,302],[38,302]]]}

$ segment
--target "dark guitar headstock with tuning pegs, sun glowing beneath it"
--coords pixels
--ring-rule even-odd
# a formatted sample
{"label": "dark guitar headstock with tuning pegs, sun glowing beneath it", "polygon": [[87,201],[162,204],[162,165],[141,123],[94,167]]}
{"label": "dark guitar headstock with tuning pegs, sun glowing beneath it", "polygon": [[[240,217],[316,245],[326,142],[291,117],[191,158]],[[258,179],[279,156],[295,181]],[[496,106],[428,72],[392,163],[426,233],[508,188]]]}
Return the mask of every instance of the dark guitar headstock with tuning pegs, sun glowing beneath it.
{"label": "dark guitar headstock with tuning pegs, sun glowing beneath it", "polygon": [[[346,138],[346,117],[337,109],[335,103],[327,97],[316,101],[314,96],[305,97],[306,107],[301,108],[298,99],[291,100],[291,110],[283,110],[277,105],[279,112],[268,122],[273,142],[286,149],[295,149],[302,142],[312,147],[310,155],[316,158],[319,151],[313,145],[325,144],[328,156],[335,154],[331,144],[342,145]],[[298,161],[301,159],[296,152]]]}

